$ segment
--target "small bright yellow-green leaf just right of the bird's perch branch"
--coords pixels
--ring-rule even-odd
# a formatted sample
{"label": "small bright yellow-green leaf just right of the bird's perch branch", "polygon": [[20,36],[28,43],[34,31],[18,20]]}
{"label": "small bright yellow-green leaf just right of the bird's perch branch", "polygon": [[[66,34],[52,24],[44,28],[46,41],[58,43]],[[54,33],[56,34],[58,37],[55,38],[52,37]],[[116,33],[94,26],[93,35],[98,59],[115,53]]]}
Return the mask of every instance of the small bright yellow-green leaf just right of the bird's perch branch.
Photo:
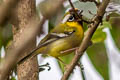
{"label": "small bright yellow-green leaf just right of the bird's perch branch", "polygon": [[103,32],[102,29],[97,29],[92,37],[93,43],[103,42],[106,39],[106,32]]}

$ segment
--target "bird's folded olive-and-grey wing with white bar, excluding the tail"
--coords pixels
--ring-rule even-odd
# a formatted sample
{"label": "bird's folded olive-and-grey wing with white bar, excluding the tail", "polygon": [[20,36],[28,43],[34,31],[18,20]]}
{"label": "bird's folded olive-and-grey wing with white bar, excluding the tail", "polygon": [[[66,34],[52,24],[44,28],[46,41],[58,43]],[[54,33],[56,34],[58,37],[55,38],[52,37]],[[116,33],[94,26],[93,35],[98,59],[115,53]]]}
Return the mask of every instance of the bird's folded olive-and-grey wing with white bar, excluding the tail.
{"label": "bird's folded olive-and-grey wing with white bar, excluding the tail", "polygon": [[[72,33],[70,32],[69,34],[64,31],[64,28],[67,25],[65,24],[60,24],[57,27],[55,27],[48,35],[46,35],[39,43],[39,45],[47,45],[55,40],[65,38],[70,36]],[[39,46],[38,45],[38,46]]]}

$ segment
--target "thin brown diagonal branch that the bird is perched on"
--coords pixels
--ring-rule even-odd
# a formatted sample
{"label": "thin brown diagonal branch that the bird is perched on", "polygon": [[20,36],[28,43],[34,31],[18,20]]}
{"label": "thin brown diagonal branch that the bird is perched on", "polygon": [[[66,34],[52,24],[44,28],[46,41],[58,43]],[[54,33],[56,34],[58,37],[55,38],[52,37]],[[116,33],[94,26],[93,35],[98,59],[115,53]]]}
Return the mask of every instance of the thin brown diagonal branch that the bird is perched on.
{"label": "thin brown diagonal branch that the bird is perched on", "polygon": [[96,16],[92,19],[94,23],[92,23],[89,29],[87,30],[86,35],[77,51],[77,54],[72,59],[72,62],[68,65],[68,68],[66,69],[61,80],[68,80],[70,74],[72,73],[74,67],[78,63],[80,57],[84,54],[84,51],[88,48],[88,44],[92,38],[93,33],[96,31],[98,25],[102,21],[103,15],[105,13],[105,9],[109,1],[110,0],[103,0],[103,2],[100,4]]}

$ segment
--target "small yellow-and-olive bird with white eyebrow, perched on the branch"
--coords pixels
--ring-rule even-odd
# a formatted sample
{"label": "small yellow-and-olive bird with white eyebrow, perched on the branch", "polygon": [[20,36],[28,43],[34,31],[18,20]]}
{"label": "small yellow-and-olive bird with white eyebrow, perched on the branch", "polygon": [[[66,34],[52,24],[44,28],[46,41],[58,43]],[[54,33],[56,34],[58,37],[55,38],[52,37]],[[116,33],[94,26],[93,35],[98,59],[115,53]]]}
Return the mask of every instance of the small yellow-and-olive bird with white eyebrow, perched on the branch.
{"label": "small yellow-and-olive bird with white eyebrow, perched on the branch", "polygon": [[18,63],[41,53],[59,59],[60,56],[73,52],[80,45],[84,36],[83,24],[78,16],[79,14],[80,10],[70,9],[64,15],[62,22],[41,40],[38,47]]}

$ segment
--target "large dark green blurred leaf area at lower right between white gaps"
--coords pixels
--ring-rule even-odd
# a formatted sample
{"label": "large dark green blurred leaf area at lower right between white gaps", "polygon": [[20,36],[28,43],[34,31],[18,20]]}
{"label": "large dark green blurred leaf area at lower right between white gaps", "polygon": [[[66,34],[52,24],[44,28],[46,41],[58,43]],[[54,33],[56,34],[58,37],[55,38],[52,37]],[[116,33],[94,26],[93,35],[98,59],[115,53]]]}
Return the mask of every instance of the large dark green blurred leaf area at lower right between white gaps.
{"label": "large dark green blurred leaf area at lower right between white gaps", "polygon": [[87,54],[104,80],[109,80],[108,57],[104,43],[97,43],[87,49]]}

